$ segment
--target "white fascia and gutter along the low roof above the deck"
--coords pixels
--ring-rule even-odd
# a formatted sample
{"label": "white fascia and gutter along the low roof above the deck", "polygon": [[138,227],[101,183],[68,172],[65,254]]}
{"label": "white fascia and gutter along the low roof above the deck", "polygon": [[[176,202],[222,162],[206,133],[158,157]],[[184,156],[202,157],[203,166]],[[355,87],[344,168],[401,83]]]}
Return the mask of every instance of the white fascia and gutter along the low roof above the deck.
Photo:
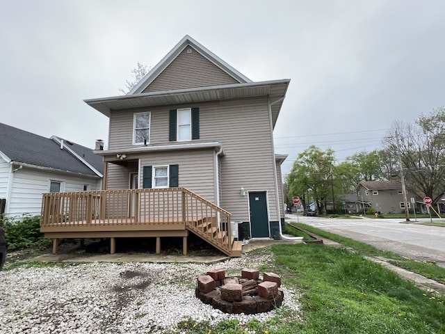
{"label": "white fascia and gutter along the low roof above the deck", "polygon": [[[97,155],[107,156],[114,154],[133,154],[133,153],[148,153],[159,151],[172,151],[172,150],[198,150],[202,148],[223,148],[223,145],[219,142],[211,143],[184,143],[174,145],[158,145],[158,146],[138,146],[137,148],[127,148],[120,150],[99,150],[93,151]],[[222,154],[224,155],[224,154]]]}

